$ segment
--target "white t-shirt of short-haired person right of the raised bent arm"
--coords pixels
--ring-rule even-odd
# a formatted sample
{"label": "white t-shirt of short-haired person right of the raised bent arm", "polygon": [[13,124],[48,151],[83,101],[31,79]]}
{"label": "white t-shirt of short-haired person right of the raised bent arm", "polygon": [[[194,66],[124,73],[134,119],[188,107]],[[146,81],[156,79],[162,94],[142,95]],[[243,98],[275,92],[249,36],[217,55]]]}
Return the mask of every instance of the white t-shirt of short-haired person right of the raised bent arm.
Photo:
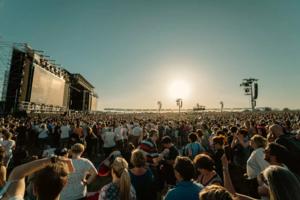
{"label": "white t-shirt of short-haired person right of the raised bent arm", "polygon": [[85,158],[72,159],[74,172],[69,174],[67,185],[60,193],[60,200],[81,199],[87,194],[87,187],[82,184],[89,170],[96,168],[91,161]]}

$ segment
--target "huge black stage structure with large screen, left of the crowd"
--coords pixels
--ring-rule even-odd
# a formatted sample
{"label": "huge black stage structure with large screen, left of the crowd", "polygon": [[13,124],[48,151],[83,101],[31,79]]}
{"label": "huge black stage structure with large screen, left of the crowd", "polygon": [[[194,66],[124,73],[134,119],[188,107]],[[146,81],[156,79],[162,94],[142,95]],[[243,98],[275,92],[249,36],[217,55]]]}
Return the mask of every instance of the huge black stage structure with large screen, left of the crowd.
{"label": "huge black stage structure with large screen, left of the crowd", "polygon": [[24,45],[13,47],[5,113],[63,113],[95,111],[94,86],[81,74],[63,69],[49,56]]}

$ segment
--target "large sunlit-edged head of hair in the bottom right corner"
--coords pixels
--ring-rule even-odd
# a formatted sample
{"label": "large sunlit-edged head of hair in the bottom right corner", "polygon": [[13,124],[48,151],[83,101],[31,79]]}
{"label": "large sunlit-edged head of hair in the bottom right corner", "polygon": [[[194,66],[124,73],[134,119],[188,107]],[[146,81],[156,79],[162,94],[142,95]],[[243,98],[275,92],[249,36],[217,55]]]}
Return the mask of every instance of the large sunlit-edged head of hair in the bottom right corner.
{"label": "large sunlit-edged head of hair in the bottom right corner", "polygon": [[271,165],[262,174],[269,188],[270,200],[300,199],[299,180],[288,169]]}

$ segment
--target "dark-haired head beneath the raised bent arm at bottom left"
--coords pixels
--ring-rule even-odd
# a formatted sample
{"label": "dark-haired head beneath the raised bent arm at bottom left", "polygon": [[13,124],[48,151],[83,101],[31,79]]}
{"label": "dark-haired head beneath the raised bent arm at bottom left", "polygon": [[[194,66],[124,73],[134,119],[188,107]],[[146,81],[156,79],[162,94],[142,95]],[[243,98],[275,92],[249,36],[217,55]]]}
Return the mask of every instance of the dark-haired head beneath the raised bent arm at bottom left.
{"label": "dark-haired head beneath the raised bent arm at bottom left", "polygon": [[[37,172],[33,179],[33,191],[37,199],[56,199],[68,179],[68,171],[64,165],[56,163]],[[51,187],[49,187],[51,186]]]}

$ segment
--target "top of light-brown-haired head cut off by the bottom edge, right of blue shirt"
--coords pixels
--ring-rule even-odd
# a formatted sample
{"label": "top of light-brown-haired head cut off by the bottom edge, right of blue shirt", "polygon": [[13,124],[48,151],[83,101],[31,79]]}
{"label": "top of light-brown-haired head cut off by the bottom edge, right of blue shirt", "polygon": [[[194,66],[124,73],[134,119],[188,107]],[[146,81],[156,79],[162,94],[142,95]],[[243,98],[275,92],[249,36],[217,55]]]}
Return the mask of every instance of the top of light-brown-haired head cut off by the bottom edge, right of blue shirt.
{"label": "top of light-brown-haired head cut off by the bottom edge, right of blue shirt", "polygon": [[219,185],[209,185],[199,193],[199,200],[233,200],[232,194]]}

